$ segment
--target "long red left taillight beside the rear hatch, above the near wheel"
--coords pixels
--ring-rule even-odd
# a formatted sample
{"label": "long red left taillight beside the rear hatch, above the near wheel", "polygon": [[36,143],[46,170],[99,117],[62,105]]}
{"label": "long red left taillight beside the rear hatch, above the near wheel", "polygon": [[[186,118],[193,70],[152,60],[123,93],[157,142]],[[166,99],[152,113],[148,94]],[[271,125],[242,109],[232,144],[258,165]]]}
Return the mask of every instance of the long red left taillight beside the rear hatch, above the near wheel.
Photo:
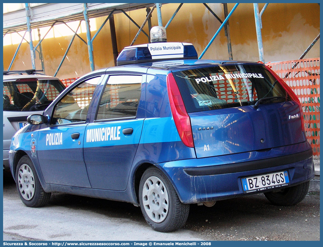
{"label": "long red left taillight beside the rear hatch, above the near wheel", "polygon": [[191,120],[186,112],[180,90],[172,73],[166,77],[169,103],[172,116],[182,142],[188,147],[194,147]]}

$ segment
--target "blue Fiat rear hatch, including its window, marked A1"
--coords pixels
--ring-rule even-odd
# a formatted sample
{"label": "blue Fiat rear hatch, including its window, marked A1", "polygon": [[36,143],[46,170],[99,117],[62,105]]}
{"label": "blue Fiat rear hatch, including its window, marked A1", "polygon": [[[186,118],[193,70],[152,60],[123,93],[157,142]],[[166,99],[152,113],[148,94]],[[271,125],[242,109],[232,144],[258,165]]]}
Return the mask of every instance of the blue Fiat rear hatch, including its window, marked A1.
{"label": "blue Fiat rear hatch, including its window, marked A1", "polygon": [[173,73],[198,158],[264,151],[306,140],[297,97],[261,64]]}

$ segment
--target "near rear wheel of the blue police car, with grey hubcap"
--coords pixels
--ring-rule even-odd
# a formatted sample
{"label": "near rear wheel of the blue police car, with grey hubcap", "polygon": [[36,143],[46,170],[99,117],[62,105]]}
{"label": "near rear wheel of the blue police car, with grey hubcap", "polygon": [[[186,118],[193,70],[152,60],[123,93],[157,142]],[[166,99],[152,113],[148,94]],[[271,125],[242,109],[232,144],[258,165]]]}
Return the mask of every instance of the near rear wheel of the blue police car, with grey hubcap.
{"label": "near rear wheel of the blue police car, with grey hubcap", "polygon": [[168,178],[156,167],[148,168],[141,177],[139,201],[147,223],[156,231],[170,232],[181,228],[190,205],[183,204]]}

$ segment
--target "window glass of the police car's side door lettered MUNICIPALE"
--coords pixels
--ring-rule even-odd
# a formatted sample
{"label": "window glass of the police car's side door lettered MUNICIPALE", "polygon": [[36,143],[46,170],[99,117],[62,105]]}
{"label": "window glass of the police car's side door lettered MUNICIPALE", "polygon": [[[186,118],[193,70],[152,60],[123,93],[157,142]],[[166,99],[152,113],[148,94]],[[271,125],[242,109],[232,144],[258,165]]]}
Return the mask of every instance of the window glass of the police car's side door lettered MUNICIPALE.
{"label": "window glass of the police car's side door lettered MUNICIPALE", "polygon": [[141,81],[141,75],[109,76],[96,120],[135,118],[141,94]]}

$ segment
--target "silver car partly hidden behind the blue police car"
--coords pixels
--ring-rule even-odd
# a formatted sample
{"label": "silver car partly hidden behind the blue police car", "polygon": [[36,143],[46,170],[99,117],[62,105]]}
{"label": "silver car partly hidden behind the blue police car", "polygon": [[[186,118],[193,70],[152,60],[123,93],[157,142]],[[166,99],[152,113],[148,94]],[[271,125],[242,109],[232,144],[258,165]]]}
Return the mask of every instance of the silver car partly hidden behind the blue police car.
{"label": "silver car partly hidden behind the blue police car", "polygon": [[31,114],[41,114],[65,89],[56,77],[36,70],[3,71],[3,169],[9,169],[12,136],[27,124]]}

